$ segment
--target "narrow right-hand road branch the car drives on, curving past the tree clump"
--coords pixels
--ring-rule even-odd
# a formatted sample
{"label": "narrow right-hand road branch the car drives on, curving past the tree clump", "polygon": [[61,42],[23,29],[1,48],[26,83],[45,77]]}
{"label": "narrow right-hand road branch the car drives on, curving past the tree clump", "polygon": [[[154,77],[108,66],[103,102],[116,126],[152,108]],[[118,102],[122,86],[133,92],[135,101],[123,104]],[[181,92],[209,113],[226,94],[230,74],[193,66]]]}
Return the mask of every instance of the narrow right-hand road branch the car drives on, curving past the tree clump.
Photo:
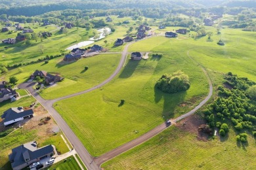
{"label": "narrow right-hand road branch the car drives on, curving past the tree clump", "polygon": [[[188,55],[188,57],[190,58],[189,55]],[[205,73],[205,76],[207,77],[207,80],[209,82],[209,93],[208,93],[207,97],[199,105],[197,105],[194,109],[190,110],[186,114],[183,114],[182,116],[179,116],[178,118],[176,118],[174,120],[171,120],[171,122],[176,123],[179,120],[182,120],[183,118],[186,118],[187,116],[190,116],[191,114],[194,114],[194,112],[196,112],[196,110],[200,109],[200,107],[202,107],[211,98],[211,95],[213,94],[213,86],[211,84],[211,80],[210,80],[207,72],[205,71],[205,69],[203,67],[202,67],[202,70],[203,70],[203,73]],[[137,139],[134,139],[133,141],[130,141],[129,143],[125,143],[125,144],[115,148],[114,150],[111,150],[110,152],[107,152],[106,154],[104,154],[98,158],[95,158],[95,162],[100,166],[105,161],[111,160],[112,158],[118,156],[119,154],[126,152],[127,150],[134,148],[135,146],[138,146],[139,144],[142,144],[145,141],[148,141],[148,139],[151,139],[152,137],[158,135],[158,133],[160,133],[161,131],[163,131],[166,128],[167,128],[167,126],[165,125],[165,123],[163,123],[160,126],[152,129],[151,131],[144,133],[144,135],[138,137]]]}

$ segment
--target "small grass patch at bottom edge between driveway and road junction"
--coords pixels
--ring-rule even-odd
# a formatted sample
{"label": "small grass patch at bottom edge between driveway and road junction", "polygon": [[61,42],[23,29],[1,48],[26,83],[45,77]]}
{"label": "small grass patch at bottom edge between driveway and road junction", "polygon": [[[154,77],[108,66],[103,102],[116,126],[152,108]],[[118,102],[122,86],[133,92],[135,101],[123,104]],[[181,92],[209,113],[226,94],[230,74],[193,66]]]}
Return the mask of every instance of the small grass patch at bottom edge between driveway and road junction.
{"label": "small grass patch at bottom edge between driveway and road junction", "polygon": [[[70,160],[71,159],[71,160]],[[57,163],[54,163],[53,165],[51,165],[50,167],[44,168],[44,169],[56,169],[56,170],[73,170],[73,169],[81,169],[77,163],[77,161],[75,161],[74,156],[70,156],[68,158],[66,158],[65,160],[62,161],[58,161]]]}

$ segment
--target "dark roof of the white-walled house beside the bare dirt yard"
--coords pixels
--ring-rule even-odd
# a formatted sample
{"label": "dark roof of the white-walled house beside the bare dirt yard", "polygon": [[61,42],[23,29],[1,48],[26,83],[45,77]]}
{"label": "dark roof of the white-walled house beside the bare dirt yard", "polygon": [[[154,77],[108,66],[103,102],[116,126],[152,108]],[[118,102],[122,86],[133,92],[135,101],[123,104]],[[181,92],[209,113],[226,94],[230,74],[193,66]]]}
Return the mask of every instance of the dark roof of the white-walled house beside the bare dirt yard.
{"label": "dark roof of the white-walled house beside the bare dirt yard", "polygon": [[3,115],[1,116],[1,118],[5,118],[3,122],[8,122],[10,120],[23,118],[25,116],[29,116],[32,114],[33,114],[32,109],[23,111],[22,107],[12,107],[11,109],[8,109],[5,112],[3,112]]}

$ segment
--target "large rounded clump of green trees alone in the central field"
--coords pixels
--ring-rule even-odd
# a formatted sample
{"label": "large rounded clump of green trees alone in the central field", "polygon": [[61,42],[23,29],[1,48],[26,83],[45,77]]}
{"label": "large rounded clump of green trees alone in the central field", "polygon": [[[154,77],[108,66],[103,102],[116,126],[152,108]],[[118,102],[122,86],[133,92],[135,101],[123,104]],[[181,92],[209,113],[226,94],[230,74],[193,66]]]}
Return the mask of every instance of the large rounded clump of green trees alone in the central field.
{"label": "large rounded clump of green trees alone in the central field", "polygon": [[182,71],[177,71],[173,75],[165,74],[156,82],[156,88],[165,93],[186,91],[190,88],[188,75],[185,75]]}

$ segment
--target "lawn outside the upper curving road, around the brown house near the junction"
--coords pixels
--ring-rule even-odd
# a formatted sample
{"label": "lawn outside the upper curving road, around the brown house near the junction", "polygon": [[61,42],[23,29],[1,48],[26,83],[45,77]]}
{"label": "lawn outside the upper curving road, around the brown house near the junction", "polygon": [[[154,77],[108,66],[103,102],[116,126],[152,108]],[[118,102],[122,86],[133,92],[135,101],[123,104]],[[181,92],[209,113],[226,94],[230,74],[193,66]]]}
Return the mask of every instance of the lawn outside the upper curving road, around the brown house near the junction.
{"label": "lawn outside the upper curving road, around the brown house near the junction", "polygon": [[[51,59],[47,64],[41,62],[21,67],[22,73],[20,73],[19,69],[13,69],[7,73],[6,76],[14,75],[18,78],[18,83],[22,83],[26,81],[36,69],[49,73],[59,73],[61,76],[64,76],[65,79],[41,91],[43,98],[54,99],[81,92],[96,84],[100,84],[100,82],[106,80],[114,73],[120,58],[121,54],[100,54],[73,62],[66,62],[63,61],[63,58],[56,58]],[[85,71],[85,66],[89,67],[87,71]]]}

